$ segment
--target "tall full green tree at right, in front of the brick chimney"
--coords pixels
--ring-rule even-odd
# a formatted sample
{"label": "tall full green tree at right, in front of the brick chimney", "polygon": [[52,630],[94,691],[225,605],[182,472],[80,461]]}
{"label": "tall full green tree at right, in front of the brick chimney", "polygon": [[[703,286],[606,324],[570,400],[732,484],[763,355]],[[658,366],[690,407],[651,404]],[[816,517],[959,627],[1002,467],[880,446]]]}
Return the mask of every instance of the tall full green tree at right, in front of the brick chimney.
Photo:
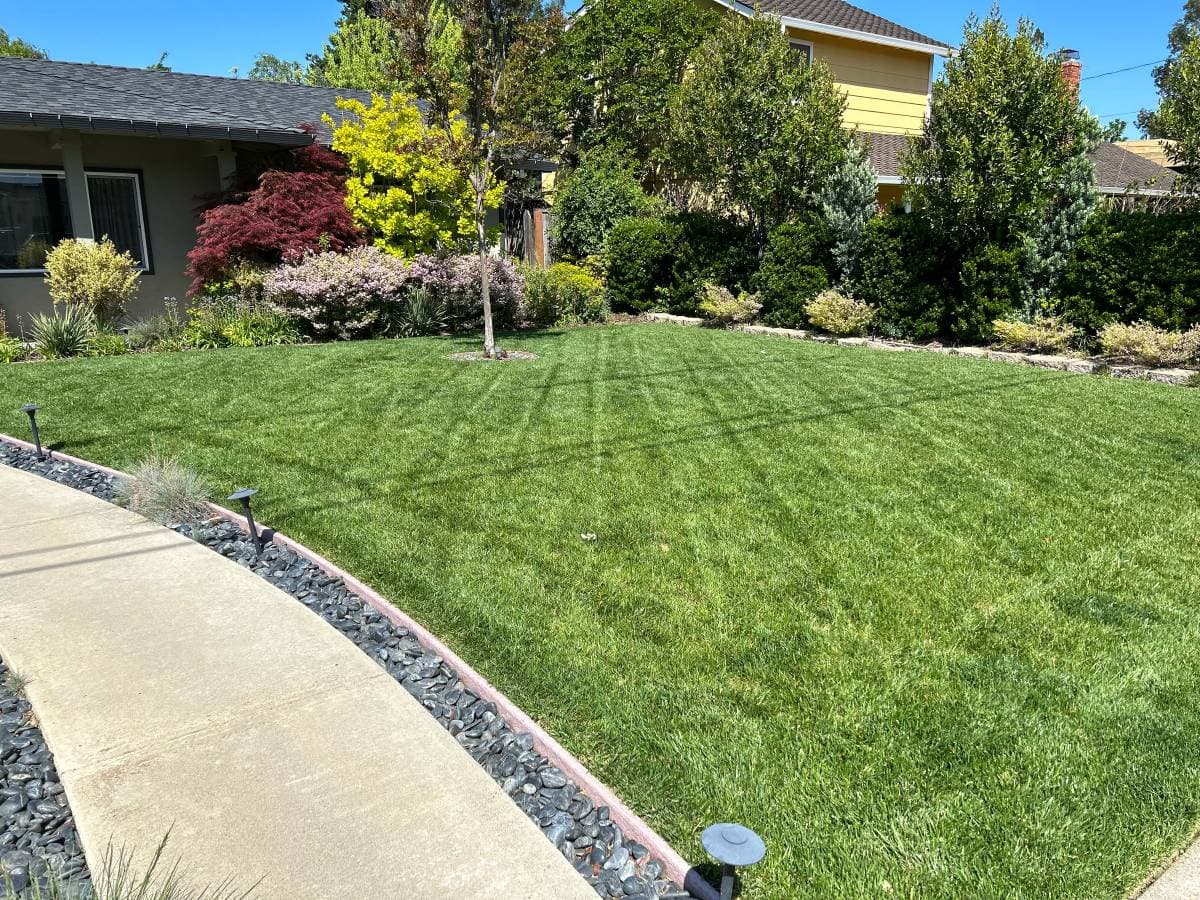
{"label": "tall full green tree at right, in front of the brick chimney", "polygon": [[1009,34],[997,11],[967,20],[901,162],[946,274],[942,331],[983,340],[996,318],[1048,311],[1098,203],[1088,158],[1098,139],[1031,22]]}

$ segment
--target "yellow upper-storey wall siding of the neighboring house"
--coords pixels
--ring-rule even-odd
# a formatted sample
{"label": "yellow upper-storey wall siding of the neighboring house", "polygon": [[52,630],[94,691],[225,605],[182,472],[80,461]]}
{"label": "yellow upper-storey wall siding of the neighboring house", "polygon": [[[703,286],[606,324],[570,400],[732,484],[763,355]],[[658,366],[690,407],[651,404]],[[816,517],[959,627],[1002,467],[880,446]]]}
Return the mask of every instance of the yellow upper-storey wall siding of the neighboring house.
{"label": "yellow upper-storey wall siding of the neighboring house", "polygon": [[932,55],[799,29],[787,36],[811,43],[812,58],[833,70],[846,91],[846,125],[883,134],[922,130]]}

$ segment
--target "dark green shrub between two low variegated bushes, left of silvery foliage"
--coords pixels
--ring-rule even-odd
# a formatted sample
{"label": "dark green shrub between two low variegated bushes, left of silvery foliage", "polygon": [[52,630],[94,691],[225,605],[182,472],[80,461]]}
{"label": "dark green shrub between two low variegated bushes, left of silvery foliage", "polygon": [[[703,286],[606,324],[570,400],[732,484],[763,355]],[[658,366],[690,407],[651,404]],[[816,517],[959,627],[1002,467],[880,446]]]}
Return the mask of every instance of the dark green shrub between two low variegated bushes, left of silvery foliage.
{"label": "dark green shrub between two low variegated bushes, left of silvery foliage", "polygon": [[751,284],[762,298],[760,318],[775,328],[805,324],[804,306],[829,287],[829,233],[809,217],[772,229]]}

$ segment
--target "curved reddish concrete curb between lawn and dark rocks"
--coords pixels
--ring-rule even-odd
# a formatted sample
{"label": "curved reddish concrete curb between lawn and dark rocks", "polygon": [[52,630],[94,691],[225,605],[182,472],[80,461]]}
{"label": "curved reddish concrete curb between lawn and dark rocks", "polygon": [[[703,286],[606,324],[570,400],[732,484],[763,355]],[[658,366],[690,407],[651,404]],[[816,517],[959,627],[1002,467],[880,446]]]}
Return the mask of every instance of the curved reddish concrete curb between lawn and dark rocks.
{"label": "curved reddish concrete curb between lawn and dark rocks", "polygon": [[[36,451],[34,444],[14,438],[11,434],[0,432],[0,442],[12,444],[23,450]],[[64,462],[74,463],[85,468],[103,472],[114,478],[128,479],[130,475],[120,469],[113,469],[90,460],[61,452],[59,450],[46,450],[48,456]],[[244,516],[220,506],[215,503],[206,504],[209,510],[220,518],[235,524],[248,534],[248,527]],[[503,691],[496,688],[484,676],[475,671],[457,653],[450,649],[440,638],[433,635],[416,619],[400,610],[377,590],[355,578],[346,570],[331,563],[319,553],[308,550],[296,540],[277,532],[269,526],[257,522],[259,529],[270,533],[270,539],[296,556],[307,559],[330,577],[341,578],[350,590],[356,593],[364,601],[370,604],[377,612],[385,616],[392,624],[409,629],[413,635],[425,644],[426,648],[442,656],[451,668],[454,668],[462,682],[473,694],[496,703],[498,714],[506,719],[512,731],[524,731],[533,736],[534,748],[550,760],[556,767],[571,778],[578,787],[583,790],[593,803],[598,806],[608,806],[610,816],[620,829],[638,844],[646,846],[650,854],[662,864],[662,871],[677,884],[692,894],[696,900],[720,900],[720,895],[712,884],[690,865],[662,836],[648,826],[636,812],[634,812],[607,785],[593,775],[588,768],[575,756],[559,744],[546,732],[534,719],[527,715],[516,703],[509,700]]]}

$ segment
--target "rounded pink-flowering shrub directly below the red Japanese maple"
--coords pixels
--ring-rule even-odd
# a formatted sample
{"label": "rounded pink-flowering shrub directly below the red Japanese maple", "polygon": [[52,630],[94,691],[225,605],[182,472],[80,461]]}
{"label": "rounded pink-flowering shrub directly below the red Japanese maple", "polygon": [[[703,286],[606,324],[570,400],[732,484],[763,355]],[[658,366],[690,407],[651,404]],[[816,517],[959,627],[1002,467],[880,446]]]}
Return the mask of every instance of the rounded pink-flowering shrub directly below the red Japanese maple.
{"label": "rounded pink-flowering shrub directly below the red Japanese maple", "polygon": [[378,247],[310,253],[268,274],[263,292],[317,337],[366,337],[404,295],[408,266]]}

